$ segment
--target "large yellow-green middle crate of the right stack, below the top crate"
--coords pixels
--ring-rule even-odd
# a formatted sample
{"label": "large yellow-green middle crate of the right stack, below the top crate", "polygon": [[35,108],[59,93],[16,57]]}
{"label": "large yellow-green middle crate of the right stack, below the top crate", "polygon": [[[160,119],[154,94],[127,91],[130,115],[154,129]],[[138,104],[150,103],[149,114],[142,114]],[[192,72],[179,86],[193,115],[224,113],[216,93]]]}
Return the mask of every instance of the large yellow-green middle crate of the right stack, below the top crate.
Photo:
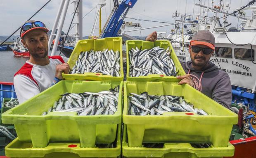
{"label": "large yellow-green middle crate of the right stack, below the top crate", "polygon": [[[129,115],[128,95],[141,92],[184,96],[187,102],[209,115],[191,112],[165,112],[154,116]],[[227,147],[232,126],[237,124],[237,120],[237,114],[189,85],[178,85],[178,82],[124,82],[123,123],[127,124],[129,147],[142,147],[142,142],[209,142],[214,147]]]}

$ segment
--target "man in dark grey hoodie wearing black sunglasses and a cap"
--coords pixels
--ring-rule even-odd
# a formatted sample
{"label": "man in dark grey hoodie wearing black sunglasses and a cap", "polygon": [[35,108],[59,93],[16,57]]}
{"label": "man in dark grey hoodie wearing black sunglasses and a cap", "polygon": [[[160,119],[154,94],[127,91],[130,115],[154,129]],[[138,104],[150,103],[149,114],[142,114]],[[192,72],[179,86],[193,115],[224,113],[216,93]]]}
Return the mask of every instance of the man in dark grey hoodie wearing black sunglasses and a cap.
{"label": "man in dark grey hoodie wearing black sunglasses and a cap", "polygon": [[[155,41],[156,32],[149,34],[146,41]],[[181,65],[187,73],[177,76],[179,84],[189,84],[214,101],[230,108],[232,101],[231,82],[228,73],[221,71],[210,60],[215,48],[215,38],[207,30],[198,31],[192,37],[189,45],[191,61]]]}

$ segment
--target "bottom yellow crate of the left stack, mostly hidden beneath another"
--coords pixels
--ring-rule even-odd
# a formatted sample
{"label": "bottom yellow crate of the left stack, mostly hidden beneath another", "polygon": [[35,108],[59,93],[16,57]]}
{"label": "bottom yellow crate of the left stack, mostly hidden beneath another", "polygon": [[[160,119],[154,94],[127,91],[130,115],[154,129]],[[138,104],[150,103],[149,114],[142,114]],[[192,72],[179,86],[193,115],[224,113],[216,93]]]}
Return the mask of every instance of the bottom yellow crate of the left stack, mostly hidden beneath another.
{"label": "bottom yellow crate of the left stack, mostly hidden beneath another", "polygon": [[9,158],[117,158],[121,156],[121,124],[114,144],[114,148],[82,148],[79,143],[50,143],[35,148],[16,138],[5,147],[5,154]]}

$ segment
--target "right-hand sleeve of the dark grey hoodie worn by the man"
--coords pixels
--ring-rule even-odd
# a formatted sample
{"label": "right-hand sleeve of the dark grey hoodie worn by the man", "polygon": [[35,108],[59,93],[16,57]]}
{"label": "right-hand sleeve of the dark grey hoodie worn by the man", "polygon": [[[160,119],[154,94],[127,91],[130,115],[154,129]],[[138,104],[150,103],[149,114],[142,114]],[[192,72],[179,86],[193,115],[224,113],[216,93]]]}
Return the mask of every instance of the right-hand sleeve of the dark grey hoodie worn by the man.
{"label": "right-hand sleeve of the dark grey hoodie worn by the man", "polygon": [[232,87],[228,75],[223,76],[223,78],[217,82],[213,89],[212,97],[214,101],[217,101],[225,108],[230,109],[232,101]]}

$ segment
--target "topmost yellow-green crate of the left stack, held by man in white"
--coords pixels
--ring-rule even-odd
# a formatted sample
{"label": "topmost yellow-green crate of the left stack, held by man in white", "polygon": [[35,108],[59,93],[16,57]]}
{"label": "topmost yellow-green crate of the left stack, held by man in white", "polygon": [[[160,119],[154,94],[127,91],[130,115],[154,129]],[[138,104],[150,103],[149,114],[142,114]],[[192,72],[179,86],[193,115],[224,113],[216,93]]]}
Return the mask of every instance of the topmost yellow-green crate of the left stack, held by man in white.
{"label": "topmost yellow-green crate of the left stack, held by man in white", "polygon": [[69,57],[68,64],[72,68],[76,60],[78,59],[81,51],[88,50],[104,50],[112,49],[114,52],[118,50],[120,52],[120,77],[113,77],[109,75],[102,75],[102,73],[91,73],[85,72],[83,74],[65,74],[62,76],[65,80],[112,80],[112,81],[122,81],[123,80],[123,54],[122,54],[122,37],[108,37],[104,39],[85,39],[80,40],[76,44],[71,56]]}

